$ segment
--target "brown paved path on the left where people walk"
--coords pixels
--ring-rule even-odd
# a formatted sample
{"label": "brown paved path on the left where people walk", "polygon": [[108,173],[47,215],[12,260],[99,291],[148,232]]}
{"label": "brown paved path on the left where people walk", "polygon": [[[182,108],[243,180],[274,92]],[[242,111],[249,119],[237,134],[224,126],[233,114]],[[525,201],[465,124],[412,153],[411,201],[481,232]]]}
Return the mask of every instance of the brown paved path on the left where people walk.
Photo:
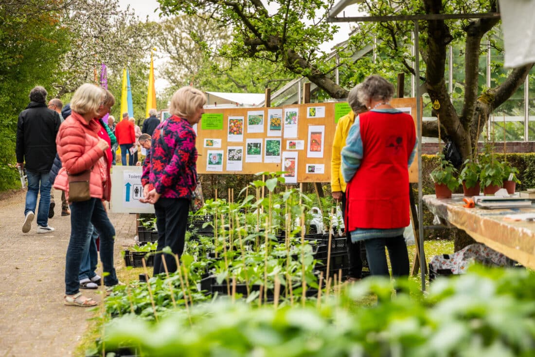
{"label": "brown paved path on the left where people walk", "polygon": [[[22,233],[26,191],[0,200],[0,356],[71,356],[96,313],[65,306],[65,252],[71,231],[70,217],[61,216],[61,203],[49,225],[55,232]],[[61,197],[60,191],[55,197]],[[116,228],[116,267],[124,266],[120,251],[131,245],[135,235],[134,214],[110,213]],[[130,243],[130,244],[129,244]],[[98,267],[102,276],[101,267]],[[100,288],[102,289],[102,287]],[[102,294],[85,290],[96,301]]]}

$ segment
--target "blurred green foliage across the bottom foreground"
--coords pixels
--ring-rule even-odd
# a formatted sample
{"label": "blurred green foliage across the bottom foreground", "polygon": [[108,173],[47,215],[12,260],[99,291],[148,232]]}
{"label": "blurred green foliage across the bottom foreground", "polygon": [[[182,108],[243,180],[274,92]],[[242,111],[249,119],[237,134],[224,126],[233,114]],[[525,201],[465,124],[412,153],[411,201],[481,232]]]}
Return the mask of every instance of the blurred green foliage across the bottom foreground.
{"label": "blurred green foliage across the bottom foreground", "polygon": [[[151,323],[128,315],[105,326],[105,346],[157,356],[532,356],[535,276],[483,269],[416,285],[365,279],[307,307],[216,301]],[[358,301],[376,295],[378,302]]]}

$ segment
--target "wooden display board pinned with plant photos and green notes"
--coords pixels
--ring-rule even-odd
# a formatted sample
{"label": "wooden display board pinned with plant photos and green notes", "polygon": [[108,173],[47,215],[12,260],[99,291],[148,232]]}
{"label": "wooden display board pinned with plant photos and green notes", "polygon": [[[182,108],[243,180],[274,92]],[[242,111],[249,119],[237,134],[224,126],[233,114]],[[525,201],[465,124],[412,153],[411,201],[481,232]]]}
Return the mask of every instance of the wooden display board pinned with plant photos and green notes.
{"label": "wooden display board pinned with plant photos and green notes", "polygon": [[[415,98],[392,99],[391,105],[395,108],[403,108],[403,111],[410,111],[412,117],[416,117]],[[347,114],[348,108],[341,102],[328,102],[271,108],[205,109],[201,122],[197,124],[196,146],[200,155],[197,159],[197,172],[200,174],[256,174],[266,171],[284,171],[283,154],[295,153],[297,158],[296,182],[330,182],[332,144],[337,125],[335,110],[337,111],[336,116],[340,117]],[[293,115],[295,112],[297,112],[296,116]],[[289,122],[292,122],[294,116],[297,118],[296,128],[292,125],[285,125],[286,116],[288,116]],[[262,125],[254,125],[259,122],[260,117],[262,117]],[[277,126],[270,126],[270,123],[278,124],[277,119],[280,120],[280,129]],[[270,130],[270,128],[274,130]],[[251,132],[251,130],[257,132]],[[233,135],[229,134],[230,131]],[[277,136],[276,134],[279,132],[280,135]],[[255,151],[258,146],[257,142],[262,143],[259,162],[247,162],[248,139],[249,144],[251,144],[249,145],[251,153],[257,152]],[[266,156],[266,140],[271,142],[269,143],[269,153],[273,153],[276,151],[272,145],[273,140],[277,139],[280,139],[281,143],[280,159],[278,162],[266,162],[266,159],[273,158],[269,155]],[[289,149],[288,145],[290,144],[296,144],[295,148],[292,145],[292,148]],[[241,170],[232,167],[233,163],[228,165],[229,147],[234,154],[236,154],[235,148],[242,149]],[[249,158],[258,160],[255,155]],[[207,161],[215,165],[208,166]],[[417,165],[418,162],[415,160],[409,168],[410,182],[418,182]]]}

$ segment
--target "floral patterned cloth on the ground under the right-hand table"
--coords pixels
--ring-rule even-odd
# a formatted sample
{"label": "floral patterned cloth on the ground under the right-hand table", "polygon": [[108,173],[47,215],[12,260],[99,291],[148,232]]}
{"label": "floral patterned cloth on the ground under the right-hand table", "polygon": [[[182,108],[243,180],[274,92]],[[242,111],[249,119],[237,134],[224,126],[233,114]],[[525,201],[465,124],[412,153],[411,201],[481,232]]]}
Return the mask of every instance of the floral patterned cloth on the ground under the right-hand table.
{"label": "floral patterned cloth on the ground under the right-hand table", "polygon": [[513,265],[511,259],[481,243],[470,244],[454,254],[435,255],[429,265],[434,271],[449,269],[453,274],[463,274],[475,262],[492,266]]}

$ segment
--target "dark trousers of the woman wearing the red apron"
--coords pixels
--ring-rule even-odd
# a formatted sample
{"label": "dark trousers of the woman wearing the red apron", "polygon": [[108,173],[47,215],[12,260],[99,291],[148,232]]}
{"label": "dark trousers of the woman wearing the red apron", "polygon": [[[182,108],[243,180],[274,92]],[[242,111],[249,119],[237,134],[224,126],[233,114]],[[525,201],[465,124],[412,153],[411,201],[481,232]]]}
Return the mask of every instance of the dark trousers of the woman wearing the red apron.
{"label": "dark trousers of the woman wearing the red apron", "polygon": [[366,246],[366,258],[368,258],[368,266],[372,275],[390,276],[386,263],[385,247],[388,249],[390,264],[392,265],[392,276],[404,277],[409,275],[409,255],[403,235],[368,239],[364,241],[364,245]]}

